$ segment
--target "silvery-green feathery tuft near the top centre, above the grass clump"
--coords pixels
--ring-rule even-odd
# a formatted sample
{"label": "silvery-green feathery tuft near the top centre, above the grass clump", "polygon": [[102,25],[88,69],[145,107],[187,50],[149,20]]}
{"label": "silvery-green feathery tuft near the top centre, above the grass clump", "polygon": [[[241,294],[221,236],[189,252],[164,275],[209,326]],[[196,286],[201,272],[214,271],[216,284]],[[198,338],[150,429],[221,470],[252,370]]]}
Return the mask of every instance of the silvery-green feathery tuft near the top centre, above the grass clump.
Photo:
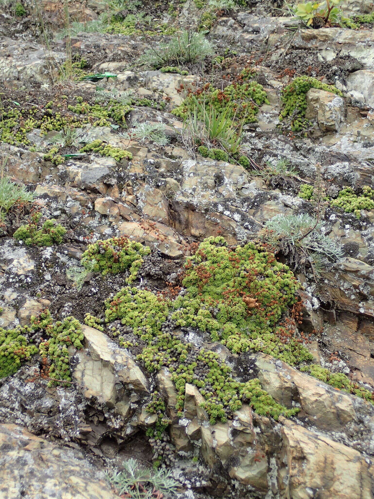
{"label": "silvery-green feathery tuft near the top centre, above the grass clump", "polygon": [[156,48],[149,48],[139,58],[139,62],[161,68],[171,62],[179,64],[197,62],[213,53],[213,46],[205,38],[205,32],[196,33],[184,30],[171,37],[168,43],[160,43]]}

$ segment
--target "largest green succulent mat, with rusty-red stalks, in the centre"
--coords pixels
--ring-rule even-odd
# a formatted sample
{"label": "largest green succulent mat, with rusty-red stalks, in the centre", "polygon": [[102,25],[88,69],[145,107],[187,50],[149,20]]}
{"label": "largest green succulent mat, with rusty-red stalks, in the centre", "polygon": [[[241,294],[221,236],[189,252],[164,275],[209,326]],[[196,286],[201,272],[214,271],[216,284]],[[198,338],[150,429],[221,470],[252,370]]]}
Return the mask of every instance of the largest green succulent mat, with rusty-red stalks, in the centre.
{"label": "largest green succulent mat, with rusty-red stalks, in the centre", "polygon": [[236,381],[217,353],[184,340],[184,332],[193,328],[233,352],[265,351],[291,364],[311,360],[293,337],[292,321],[280,321],[295,304],[299,287],[289,268],[266,247],[247,243],[228,248],[223,238],[211,237],[187,257],[182,284],[181,291],[176,288],[171,294],[124,287],[106,301],[104,320],[87,315],[86,323],[129,348],[149,372],[168,367],[180,411],[190,383],[205,398],[212,424],[226,421],[242,402],[275,419],[296,414],[297,409],[277,404],[257,379]]}

